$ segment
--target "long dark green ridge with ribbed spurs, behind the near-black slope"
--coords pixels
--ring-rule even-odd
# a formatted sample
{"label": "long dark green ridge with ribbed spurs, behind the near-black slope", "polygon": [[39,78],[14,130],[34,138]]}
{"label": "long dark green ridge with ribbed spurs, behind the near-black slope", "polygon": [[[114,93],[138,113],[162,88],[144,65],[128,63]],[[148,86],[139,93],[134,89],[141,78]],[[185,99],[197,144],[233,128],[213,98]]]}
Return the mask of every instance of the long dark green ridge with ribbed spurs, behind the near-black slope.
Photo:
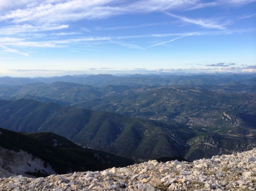
{"label": "long dark green ridge with ribbed spurs, behind the near-black slope", "polygon": [[[223,116],[224,121],[233,120]],[[236,133],[225,134],[229,127],[216,131],[24,99],[0,101],[0,126],[16,132],[53,132],[80,146],[137,160],[180,156],[193,161],[256,146],[253,126],[230,127],[238,128]]]}

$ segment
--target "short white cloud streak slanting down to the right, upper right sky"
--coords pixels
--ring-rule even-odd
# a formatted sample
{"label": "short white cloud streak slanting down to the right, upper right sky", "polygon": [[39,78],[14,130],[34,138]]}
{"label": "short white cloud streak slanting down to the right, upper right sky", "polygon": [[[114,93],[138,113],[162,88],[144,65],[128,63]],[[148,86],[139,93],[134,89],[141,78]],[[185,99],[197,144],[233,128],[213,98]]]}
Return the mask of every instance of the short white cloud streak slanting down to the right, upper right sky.
{"label": "short white cloud streak slanting down to the right, upper right sky", "polygon": [[171,13],[168,13],[168,12],[166,12],[166,14],[171,16],[171,17],[178,18],[178,19],[180,19],[184,22],[200,25],[201,27],[204,27],[204,28],[225,29],[225,27],[223,25],[218,24],[218,23],[216,23],[215,21],[212,21],[212,20],[191,19],[191,18],[187,18],[187,17],[183,17],[183,16],[174,15],[174,14],[171,14]]}

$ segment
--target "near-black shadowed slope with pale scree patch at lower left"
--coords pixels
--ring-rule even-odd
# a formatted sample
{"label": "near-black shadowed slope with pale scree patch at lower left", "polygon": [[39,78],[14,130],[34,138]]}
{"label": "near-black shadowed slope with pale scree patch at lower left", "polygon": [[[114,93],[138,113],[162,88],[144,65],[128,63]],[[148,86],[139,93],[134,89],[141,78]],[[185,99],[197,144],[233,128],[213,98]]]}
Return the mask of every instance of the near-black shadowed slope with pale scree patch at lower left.
{"label": "near-black shadowed slope with pale scree patch at lower left", "polygon": [[84,149],[54,133],[16,133],[3,128],[0,128],[0,153],[0,176],[4,172],[48,176],[134,163],[103,151]]}

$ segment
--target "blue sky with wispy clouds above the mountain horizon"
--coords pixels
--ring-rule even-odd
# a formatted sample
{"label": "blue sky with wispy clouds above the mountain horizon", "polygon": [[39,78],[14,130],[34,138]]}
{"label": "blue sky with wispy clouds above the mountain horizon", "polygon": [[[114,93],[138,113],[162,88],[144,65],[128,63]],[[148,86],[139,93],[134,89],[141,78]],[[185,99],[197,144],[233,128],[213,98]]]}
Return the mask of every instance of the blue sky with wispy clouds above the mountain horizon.
{"label": "blue sky with wispy clouds above the mountain horizon", "polygon": [[0,76],[256,72],[256,0],[0,0]]}

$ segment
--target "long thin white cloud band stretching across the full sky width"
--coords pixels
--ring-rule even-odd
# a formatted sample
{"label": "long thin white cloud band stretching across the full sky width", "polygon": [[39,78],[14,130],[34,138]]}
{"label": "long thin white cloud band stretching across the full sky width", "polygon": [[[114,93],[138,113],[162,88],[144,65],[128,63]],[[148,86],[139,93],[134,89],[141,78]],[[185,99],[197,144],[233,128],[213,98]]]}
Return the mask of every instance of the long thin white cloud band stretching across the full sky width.
{"label": "long thin white cloud band stretching across the full sky width", "polygon": [[[127,48],[136,48],[136,49],[144,49],[138,45],[132,45],[126,42],[120,42],[121,39],[136,39],[136,38],[162,38],[169,36],[177,36],[168,41],[160,42],[156,45],[152,45],[146,47],[145,49],[158,46],[161,44],[165,44],[167,42],[172,42],[179,38],[183,38],[186,36],[205,36],[205,35],[229,35],[229,34],[245,34],[250,32],[255,32],[256,28],[251,29],[236,29],[236,30],[218,30],[218,31],[198,31],[198,32],[190,32],[190,33],[163,33],[163,34],[146,34],[146,35],[131,35],[131,36],[100,36],[100,37],[84,37],[84,38],[69,38],[69,39],[61,39],[61,40],[48,40],[48,41],[30,41],[26,38],[14,38],[14,37],[0,37],[0,45],[3,46],[13,46],[13,47],[34,47],[34,48],[72,48],[72,45],[77,45],[79,42],[109,42],[118,44],[120,46],[124,46]],[[97,50],[98,49],[91,49]]]}

